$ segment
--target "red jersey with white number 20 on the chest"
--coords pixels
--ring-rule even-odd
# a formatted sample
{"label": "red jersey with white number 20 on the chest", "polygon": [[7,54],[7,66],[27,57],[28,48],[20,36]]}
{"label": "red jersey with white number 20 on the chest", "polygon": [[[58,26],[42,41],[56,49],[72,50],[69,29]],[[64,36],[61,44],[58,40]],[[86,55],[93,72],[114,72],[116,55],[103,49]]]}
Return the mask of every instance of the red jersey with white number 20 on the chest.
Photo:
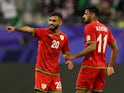
{"label": "red jersey with white number 20 on the chest", "polygon": [[69,52],[67,35],[55,35],[48,28],[35,28],[38,37],[36,69],[47,74],[59,74],[58,59],[60,52]]}

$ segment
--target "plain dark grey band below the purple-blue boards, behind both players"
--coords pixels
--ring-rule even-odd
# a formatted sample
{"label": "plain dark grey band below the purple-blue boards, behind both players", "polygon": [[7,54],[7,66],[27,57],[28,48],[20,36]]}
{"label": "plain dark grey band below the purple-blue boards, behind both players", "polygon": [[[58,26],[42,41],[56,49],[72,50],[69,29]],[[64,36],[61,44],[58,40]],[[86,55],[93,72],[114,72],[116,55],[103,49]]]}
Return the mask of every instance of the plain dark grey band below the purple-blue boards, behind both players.
{"label": "plain dark grey band below the purple-blue boards, behind both players", "polygon": [[[34,64],[0,64],[0,93],[35,93]],[[73,70],[60,64],[63,93],[74,93],[80,64]],[[115,74],[107,77],[103,93],[123,93],[124,65],[115,65]]]}

